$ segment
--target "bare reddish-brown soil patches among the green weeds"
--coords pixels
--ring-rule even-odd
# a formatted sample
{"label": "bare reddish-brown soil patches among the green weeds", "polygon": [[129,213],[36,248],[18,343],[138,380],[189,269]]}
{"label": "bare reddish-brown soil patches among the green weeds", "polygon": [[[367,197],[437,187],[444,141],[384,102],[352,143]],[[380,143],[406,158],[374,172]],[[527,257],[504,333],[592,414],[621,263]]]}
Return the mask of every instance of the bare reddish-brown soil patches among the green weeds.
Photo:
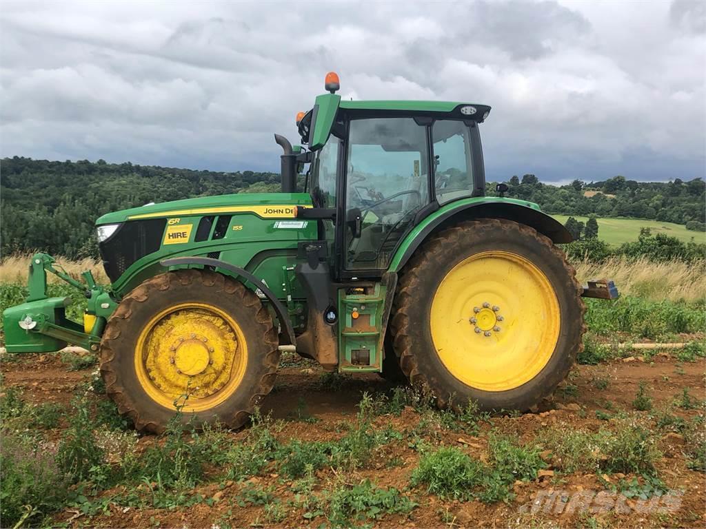
{"label": "bare reddish-brown soil patches among the green weeds", "polygon": [[[566,426],[597,431],[606,422],[597,418],[597,410],[606,409],[606,401],[612,403],[614,410],[633,412],[632,402],[641,381],[647,383],[647,389],[654,401],[653,409],[669,406],[683,388],[690,388],[691,394],[703,401],[706,399],[704,360],[695,363],[677,363],[666,355],[656,355],[650,362],[638,358],[617,360],[602,365],[580,365],[570,374],[570,389],[559,391],[554,397],[542,402],[535,413],[525,413],[515,417],[493,417],[492,427],[500,432],[516,436],[522,441],[534,439],[542,430]],[[15,362],[1,365],[5,387],[19,386],[23,389],[23,398],[27,401],[60,402],[67,404],[74,392],[90,378],[93,369],[68,371],[66,365],[56,355],[27,355]],[[283,427],[277,432],[280,442],[289,439],[328,440],[340,437],[341,422],[350,422],[357,412],[357,404],[364,391],[379,392],[390,389],[390,384],[378,375],[360,375],[346,379],[340,387],[330,387],[322,383],[322,373],[313,363],[306,361],[288,362],[280,368],[273,392],[263,403],[263,413],[271,412],[274,418],[283,419]],[[596,381],[607,379],[606,389],[597,389]],[[313,416],[316,422],[297,420],[302,413]],[[638,412],[645,413],[648,412]],[[688,419],[698,412],[674,408],[671,413]],[[412,408],[405,408],[399,417],[383,415],[376,419],[376,427],[392,425],[399,432],[412,430],[419,422],[419,414]],[[441,433],[445,445],[458,446],[477,458],[486,457],[486,436],[491,428],[484,425],[477,437],[469,437],[452,430]],[[234,442],[246,436],[246,430],[233,432]],[[587,515],[574,512],[556,513],[532,509],[532,502],[539,501],[552,492],[599,492],[605,490],[599,476],[595,474],[542,476],[535,482],[516,482],[514,501],[510,503],[482,504],[479,501],[444,501],[426,491],[409,490],[409,477],[417,466],[419,453],[409,446],[407,439],[392,442],[383,448],[384,458],[360,470],[360,478],[369,478],[380,487],[396,487],[410,494],[419,503],[409,515],[390,515],[372,525],[376,527],[563,527],[595,526],[596,520],[602,526],[621,527],[706,527],[706,479],[703,473],[689,470],[686,458],[681,451],[683,439],[677,434],[659,433],[660,448],[664,456],[657,468],[666,485],[678,492],[678,506],[669,513],[640,511],[635,499],[628,499],[627,510],[613,509],[600,513],[594,521],[587,521]],[[140,437],[138,448],[155,442],[155,437]],[[397,466],[385,464],[396,459]],[[550,466],[551,468],[551,466]],[[333,476],[333,470],[320,470],[317,477],[321,481]],[[611,480],[610,477],[609,481]],[[630,478],[630,476],[628,476]],[[612,478],[615,479],[615,478]],[[251,482],[272,486],[277,497],[285,503],[293,497],[289,486],[292,482],[283,480],[275,473],[251,478]],[[262,522],[262,506],[239,507],[229,499],[234,499],[243,485],[234,482],[213,482],[199,486],[194,492],[204,497],[216,497],[212,506],[196,504],[188,508],[174,510],[133,509],[111,506],[103,515],[86,521],[76,513],[62,512],[56,515],[56,523],[81,526],[85,523],[103,527],[179,527],[179,528],[217,528],[222,520],[232,527],[269,526]],[[632,502],[632,503],[631,503]],[[535,512],[536,511],[536,512]],[[443,514],[442,514],[443,513]],[[313,521],[302,518],[301,511],[287,514],[280,524],[286,527],[318,527],[321,520]],[[601,526],[601,525],[599,525]]]}

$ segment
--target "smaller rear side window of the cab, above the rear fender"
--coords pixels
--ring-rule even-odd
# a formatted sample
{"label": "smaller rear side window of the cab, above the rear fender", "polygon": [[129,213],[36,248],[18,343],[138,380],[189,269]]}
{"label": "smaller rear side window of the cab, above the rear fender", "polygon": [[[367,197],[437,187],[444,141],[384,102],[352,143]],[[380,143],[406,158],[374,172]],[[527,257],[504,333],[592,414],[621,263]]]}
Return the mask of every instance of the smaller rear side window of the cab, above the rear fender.
{"label": "smaller rear side window of the cab, above the rear fender", "polygon": [[439,204],[471,196],[474,190],[471,138],[462,121],[439,120],[431,128],[434,190]]}

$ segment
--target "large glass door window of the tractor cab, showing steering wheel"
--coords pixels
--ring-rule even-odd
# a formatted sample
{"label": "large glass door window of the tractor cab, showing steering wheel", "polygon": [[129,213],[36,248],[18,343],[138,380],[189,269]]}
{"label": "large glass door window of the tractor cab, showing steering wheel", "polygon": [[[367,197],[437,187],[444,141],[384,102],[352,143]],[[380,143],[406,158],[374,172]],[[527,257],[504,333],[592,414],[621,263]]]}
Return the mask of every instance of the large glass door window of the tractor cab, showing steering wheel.
{"label": "large glass door window of the tractor cab, showing steering wheel", "polygon": [[414,214],[429,202],[426,129],[412,118],[354,119],[347,145],[347,269],[385,269]]}

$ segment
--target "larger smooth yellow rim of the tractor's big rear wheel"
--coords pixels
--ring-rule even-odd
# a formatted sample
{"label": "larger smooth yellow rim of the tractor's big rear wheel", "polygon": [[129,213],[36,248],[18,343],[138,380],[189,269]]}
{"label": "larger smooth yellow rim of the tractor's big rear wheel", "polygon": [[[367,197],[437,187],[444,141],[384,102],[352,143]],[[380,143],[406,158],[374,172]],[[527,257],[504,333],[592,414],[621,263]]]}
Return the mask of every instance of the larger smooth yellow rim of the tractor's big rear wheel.
{"label": "larger smooth yellow rim of the tractor's big rear wheel", "polygon": [[454,377],[484,391],[506,391],[537,376],[554,353],[560,321],[546,275],[504,251],[460,262],[431,302],[438,357]]}

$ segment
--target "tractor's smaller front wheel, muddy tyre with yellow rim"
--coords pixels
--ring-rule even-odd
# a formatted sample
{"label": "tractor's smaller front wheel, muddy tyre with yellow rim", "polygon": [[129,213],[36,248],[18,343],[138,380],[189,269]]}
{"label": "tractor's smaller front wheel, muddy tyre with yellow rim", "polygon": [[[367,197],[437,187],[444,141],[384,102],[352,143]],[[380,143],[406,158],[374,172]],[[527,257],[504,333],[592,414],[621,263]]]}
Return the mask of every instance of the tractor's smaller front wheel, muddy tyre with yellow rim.
{"label": "tractor's smaller front wheel, muddy tyre with yellow rim", "polygon": [[100,370],[109,396],[138,430],[184,421],[244,424],[275,382],[272,318],[243,284],[179,270],[138,286],[110,318]]}

